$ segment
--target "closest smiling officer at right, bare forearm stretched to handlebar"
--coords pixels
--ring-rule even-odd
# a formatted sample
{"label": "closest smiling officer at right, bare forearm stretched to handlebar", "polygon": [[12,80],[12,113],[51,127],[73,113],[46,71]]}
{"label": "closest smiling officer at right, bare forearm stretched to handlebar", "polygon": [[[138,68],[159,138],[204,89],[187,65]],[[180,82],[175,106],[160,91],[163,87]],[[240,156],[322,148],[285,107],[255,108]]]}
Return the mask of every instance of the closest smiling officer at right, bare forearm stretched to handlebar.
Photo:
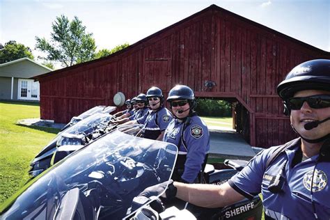
{"label": "closest smiling officer at right, bare forearm stretched to handlebar", "polygon": [[263,150],[220,187],[174,182],[166,194],[223,207],[261,192],[265,219],[330,219],[330,60],[297,65],[277,92],[299,138]]}

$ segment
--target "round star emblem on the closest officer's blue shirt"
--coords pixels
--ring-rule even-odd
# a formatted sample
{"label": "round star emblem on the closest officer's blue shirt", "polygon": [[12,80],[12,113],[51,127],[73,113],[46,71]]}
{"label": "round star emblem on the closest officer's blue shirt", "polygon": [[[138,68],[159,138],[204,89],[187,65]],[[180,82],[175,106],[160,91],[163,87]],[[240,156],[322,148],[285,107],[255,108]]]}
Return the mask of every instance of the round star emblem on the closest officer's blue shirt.
{"label": "round star emblem on the closest officer's blue shirt", "polygon": [[304,175],[304,187],[311,191],[311,187],[313,186],[313,192],[315,191],[321,191],[327,186],[328,178],[327,175],[320,170],[315,169],[314,178],[313,178],[313,184],[312,184],[312,178],[313,178],[313,169],[311,171],[308,171]]}

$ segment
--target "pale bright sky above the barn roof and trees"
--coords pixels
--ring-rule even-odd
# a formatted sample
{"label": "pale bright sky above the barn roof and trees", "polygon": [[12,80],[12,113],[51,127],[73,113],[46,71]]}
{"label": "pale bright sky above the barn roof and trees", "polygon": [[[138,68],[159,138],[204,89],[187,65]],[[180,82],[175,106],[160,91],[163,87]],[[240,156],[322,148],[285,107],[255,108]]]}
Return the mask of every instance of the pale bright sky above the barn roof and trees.
{"label": "pale bright sky above the barn roof and trees", "polygon": [[211,4],[330,51],[329,0],[0,0],[0,42],[16,40],[34,49],[35,36],[49,39],[52,22],[63,14],[81,19],[97,49],[111,49],[133,44]]}

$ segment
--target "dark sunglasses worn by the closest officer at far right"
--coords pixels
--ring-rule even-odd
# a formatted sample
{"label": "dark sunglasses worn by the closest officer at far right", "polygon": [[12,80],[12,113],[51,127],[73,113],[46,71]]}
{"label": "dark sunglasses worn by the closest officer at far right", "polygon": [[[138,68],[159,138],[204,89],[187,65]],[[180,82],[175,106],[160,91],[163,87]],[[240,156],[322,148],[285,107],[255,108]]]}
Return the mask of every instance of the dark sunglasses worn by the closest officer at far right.
{"label": "dark sunglasses worn by the closest officer at far right", "polygon": [[288,99],[288,107],[292,110],[301,109],[304,102],[313,109],[323,109],[330,107],[330,95],[312,95],[308,97],[292,97]]}

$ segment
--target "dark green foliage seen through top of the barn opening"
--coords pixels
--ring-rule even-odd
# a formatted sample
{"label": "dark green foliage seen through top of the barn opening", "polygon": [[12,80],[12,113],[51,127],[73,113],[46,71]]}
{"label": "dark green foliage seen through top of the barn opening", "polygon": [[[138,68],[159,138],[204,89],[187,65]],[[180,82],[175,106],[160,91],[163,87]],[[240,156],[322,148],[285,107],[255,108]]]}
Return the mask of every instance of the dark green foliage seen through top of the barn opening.
{"label": "dark green foliage seen through top of the barn opening", "polygon": [[224,100],[197,99],[196,111],[199,116],[231,117],[230,102]]}

